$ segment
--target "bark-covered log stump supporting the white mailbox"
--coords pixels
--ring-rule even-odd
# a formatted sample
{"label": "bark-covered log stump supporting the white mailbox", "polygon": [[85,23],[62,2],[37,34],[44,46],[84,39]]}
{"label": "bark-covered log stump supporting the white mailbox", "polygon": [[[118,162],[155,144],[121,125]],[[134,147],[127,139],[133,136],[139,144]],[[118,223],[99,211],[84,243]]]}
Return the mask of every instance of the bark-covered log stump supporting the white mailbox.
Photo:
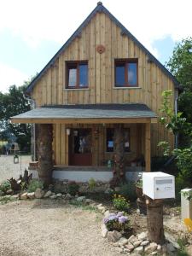
{"label": "bark-covered log stump supporting the white mailbox", "polygon": [[165,236],[163,229],[163,200],[152,200],[146,196],[148,240],[157,244],[164,244]]}

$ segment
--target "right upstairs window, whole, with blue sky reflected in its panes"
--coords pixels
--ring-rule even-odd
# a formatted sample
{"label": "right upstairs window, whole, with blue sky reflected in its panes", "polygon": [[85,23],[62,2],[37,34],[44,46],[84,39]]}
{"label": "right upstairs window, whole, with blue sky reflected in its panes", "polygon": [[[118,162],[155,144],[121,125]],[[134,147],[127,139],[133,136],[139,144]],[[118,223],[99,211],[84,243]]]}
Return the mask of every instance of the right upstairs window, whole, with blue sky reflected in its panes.
{"label": "right upstairs window, whole, with blue sky reflected in its panes", "polygon": [[136,87],[138,85],[137,60],[116,60],[115,86],[116,87]]}

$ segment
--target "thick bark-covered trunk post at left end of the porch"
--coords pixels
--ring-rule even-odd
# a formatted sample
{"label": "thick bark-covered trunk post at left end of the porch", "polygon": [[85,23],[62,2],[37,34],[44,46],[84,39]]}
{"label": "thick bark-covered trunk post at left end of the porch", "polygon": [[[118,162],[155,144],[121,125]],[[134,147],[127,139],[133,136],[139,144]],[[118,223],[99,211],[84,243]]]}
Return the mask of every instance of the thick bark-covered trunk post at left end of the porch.
{"label": "thick bark-covered trunk post at left end of the porch", "polygon": [[45,187],[48,187],[52,180],[52,139],[52,125],[38,125],[38,176]]}

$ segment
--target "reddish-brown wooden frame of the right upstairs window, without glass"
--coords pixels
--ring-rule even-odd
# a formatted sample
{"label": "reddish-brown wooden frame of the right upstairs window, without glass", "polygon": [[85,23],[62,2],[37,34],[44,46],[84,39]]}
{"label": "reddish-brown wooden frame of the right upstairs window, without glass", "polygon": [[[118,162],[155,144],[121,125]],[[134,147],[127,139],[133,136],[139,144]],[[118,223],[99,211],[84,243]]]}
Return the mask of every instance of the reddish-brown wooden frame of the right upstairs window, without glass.
{"label": "reddish-brown wooden frame of the right upstairs window, without glass", "polygon": [[[128,84],[128,66],[130,63],[137,64],[137,84]],[[124,64],[125,65],[125,84],[120,85],[116,84],[116,67],[117,64]],[[138,59],[115,59],[114,60],[114,87],[138,87]]]}

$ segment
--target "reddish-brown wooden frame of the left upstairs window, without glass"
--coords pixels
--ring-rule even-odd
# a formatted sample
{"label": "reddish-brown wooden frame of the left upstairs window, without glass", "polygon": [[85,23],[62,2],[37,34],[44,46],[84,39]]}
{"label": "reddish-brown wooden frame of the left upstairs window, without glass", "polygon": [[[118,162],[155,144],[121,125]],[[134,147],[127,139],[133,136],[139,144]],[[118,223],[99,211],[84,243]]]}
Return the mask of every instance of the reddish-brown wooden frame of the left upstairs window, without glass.
{"label": "reddish-brown wooden frame of the left upstairs window, without glass", "polygon": [[[86,86],[80,86],[79,84],[79,66],[80,65],[87,65],[87,81],[88,84]],[[76,85],[75,86],[68,86],[69,82],[69,67],[77,67],[77,75],[76,75]],[[89,68],[88,68],[88,61],[66,61],[66,88],[67,89],[86,89],[89,88]]]}

